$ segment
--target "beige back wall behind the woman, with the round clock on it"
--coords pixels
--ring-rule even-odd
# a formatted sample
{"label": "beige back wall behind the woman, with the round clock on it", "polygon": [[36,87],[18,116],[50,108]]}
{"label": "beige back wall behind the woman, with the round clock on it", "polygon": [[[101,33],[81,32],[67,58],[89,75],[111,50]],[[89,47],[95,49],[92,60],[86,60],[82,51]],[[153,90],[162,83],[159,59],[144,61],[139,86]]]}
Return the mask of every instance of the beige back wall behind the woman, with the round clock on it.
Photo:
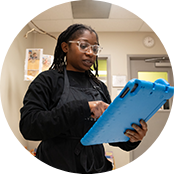
{"label": "beige back wall behind the woman, with the round clock on it", "polygon": [[[52,33],[58,36],[59,33]],[[104,48],[101,55],[111,56],[111,80],[112,75],[126,75],[127,70],[127,55],[135,54],[174,54],[174,33],[98,33],[100,45]],[[152,36],[155,39],[155,45],[152,48],[146,48],[143,45],[145,36]],[[56,40],[45,35],[36,35],[35,46],[44,49],[44,54],[53,54]],[[114,99],[117,95],[117,88],[111,87],[111,98]],[[30,142],[30,147],[35,146]],[[119,148],[113,148],[105,145],[106,150],[113,151],[116,161],[117,171],[130,170],[130,154]]]}

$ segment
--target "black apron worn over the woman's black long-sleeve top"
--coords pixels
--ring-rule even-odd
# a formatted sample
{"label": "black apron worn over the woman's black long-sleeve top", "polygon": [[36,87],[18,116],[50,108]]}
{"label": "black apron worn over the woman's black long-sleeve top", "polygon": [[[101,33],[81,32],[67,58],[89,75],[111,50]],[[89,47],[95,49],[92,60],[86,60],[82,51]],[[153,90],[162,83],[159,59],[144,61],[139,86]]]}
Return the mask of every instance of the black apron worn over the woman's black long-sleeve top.
{"label": "black apron worn over the woman's black long-sleeve top", "polygon": [[[71,101],[75,102],[76,100],[84,99],[87,101],[103,100],[107,102],[101,89],[91,78],[89,80],[91,83],[90,88],[72,87],[69,84],[67,71],[64,69],[64,90],[58,105],[61,106]],[[109,171],[112,170],[112,165],[105,157],[103,145],[83,146],[80,143],[80,139],[95,121],[96,119],[91,118],[90,115],[86,118],[82,115],[78,124],[71,127],[66,133],[43,141],[39,151],[40,154],[43,151],[47,151],[47,153],[43,155],[38,154],[40,160],[38,159],[35,166],[36,171],[39,174],[43,172],[42,170],[44,169],[41,169],[42,166],[39,166],[38,169],[37,166],[39,165],[39,161],[41,162],[43,158],[47,158],[46,162],[49,163],[49,167],[51,168],[48,170],[51,170],[54,174],[109,174]],[[46,162],[43,161],[41,163]],[[44,172],[46,172],[46,169]],[[33,174],[35,173],[33,172]]]}

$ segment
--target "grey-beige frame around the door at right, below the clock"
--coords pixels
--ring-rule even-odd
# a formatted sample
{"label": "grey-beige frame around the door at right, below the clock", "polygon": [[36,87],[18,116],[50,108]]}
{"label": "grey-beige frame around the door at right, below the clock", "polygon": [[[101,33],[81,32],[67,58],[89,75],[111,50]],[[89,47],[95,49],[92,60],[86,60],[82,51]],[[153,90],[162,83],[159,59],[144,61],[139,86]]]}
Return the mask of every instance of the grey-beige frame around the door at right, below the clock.
{"label": "grey-beige frame around the door at right, below the clock", "polygon": [[[129,54],[127,55],[127,78],[128,81],[131,80],[131,60],[144,60],[145,58],[152,57],[166,57],[167,59],[174,60],[174,54]],[[134,174],[133,161],[134,161],[134,153],[130,152],[130,174]]]}

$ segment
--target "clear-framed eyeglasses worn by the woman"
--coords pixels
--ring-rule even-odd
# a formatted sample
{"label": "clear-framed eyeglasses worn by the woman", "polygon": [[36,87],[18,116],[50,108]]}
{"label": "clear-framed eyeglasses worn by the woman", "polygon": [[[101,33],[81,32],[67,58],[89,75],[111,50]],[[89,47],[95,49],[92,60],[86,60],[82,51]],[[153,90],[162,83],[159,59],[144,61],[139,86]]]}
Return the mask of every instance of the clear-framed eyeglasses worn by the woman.
{"label": "clear-framed eyeglasses worn by the woman", "polygon": [[82,53],[86,53],[87,51],[89,51],[89,49],[92,49],[93,54],[96,56],[103,49],[100,45],[91,45],[85,41],[69,41],[69,42],[70,43],[77,43],[78,44],[77,46]]}

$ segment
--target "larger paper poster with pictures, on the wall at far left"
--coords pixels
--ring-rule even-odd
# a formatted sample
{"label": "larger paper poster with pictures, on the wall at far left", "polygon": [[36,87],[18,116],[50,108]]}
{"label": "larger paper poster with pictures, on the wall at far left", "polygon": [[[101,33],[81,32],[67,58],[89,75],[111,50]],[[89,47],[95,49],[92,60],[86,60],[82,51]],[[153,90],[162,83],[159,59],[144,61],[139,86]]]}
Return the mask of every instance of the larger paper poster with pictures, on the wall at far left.
{"label": "larger paper poster with pictures, on the wall at far left", "polygon": [[26,49],[24,80],[32,81],[42,71],[43,49]]}

